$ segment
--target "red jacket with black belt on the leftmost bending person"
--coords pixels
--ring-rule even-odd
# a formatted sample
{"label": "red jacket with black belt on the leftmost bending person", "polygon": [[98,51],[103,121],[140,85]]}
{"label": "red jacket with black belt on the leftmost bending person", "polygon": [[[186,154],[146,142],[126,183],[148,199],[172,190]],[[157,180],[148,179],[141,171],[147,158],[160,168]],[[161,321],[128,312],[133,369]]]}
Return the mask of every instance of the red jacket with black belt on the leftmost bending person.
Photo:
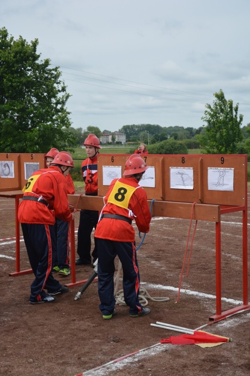
{"label": "red jacket with black belt on the leftmost bending person", "polygon": [[66,177],[57,166],[42,168],[34,172],[28,179],[24,189],[24,197],[41,197],[48,202],[22,200],[18,210],[20,223],[55,224],[55,217],[64,222],[72,220],[67,199]]}

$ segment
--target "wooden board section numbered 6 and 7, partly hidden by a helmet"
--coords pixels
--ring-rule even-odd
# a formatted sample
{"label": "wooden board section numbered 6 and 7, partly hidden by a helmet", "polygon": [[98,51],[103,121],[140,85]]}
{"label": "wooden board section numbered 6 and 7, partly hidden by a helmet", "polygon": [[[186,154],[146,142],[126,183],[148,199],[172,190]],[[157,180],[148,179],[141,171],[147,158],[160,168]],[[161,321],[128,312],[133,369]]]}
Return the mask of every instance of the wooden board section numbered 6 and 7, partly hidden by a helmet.
{"label": "wooden board section numbered 6 and 7, partly hidden by a helmet", "polygon": [[[119,173],[123,174],[125,163],[129,155],[127,154],[99,154],[98,155],[98,162],[97,162],[97,168],[98,168],[98,196],[105,196],[108,191],[108,186],[111,183],[111,181],[118,176],[115,176],[115,172],[113,167],[119,167]],[[155,179],[152,177],[148,177],[151,182],[154,180],[154,188],[151,186],[144,186],[147,184],[147,180],[142,179],[142,186],[144,190],[147,193],[148,199],[155,199],[155,200],[163,200],[163,192],[164,192],[164,166],[163,166],[163,156],[161,155],[147,155],[143,156],[142,159],[145,160],[145,163],[149,167],[149,169],[152,168],[152,174],[154,174]],[[104,182],[104,176],[103,176],[103,166],[110,168],[109,171],[109,180],[108,183]],[[149,171],[147,170],[147,172]],[[149,180],[148,180],[149,181]]]}

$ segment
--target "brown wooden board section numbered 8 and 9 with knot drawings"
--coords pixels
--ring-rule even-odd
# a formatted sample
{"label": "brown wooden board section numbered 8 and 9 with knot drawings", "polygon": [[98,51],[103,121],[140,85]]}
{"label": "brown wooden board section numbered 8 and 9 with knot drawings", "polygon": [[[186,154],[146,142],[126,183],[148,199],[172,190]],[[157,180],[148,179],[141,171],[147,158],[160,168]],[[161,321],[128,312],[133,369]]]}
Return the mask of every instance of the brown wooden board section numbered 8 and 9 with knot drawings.
{"label": "brown wooden board section numbered 8 and 9 with knot drawings", "polygon": [[[165,200],[231,206],[247,205],[246,155],[165,155],[164,166]],[[174,168],[177,171],[176,175],[178,174],[176,188],[173,188],[170,176],[171,170],[175,171]],[[188,189],[185,179],[191,177],[192,173],[193,188]],[[208,179],[209,173],[210,176],[214,174],[213,184],[211,178]],[[225,174],[231,176],[231,190]]]}

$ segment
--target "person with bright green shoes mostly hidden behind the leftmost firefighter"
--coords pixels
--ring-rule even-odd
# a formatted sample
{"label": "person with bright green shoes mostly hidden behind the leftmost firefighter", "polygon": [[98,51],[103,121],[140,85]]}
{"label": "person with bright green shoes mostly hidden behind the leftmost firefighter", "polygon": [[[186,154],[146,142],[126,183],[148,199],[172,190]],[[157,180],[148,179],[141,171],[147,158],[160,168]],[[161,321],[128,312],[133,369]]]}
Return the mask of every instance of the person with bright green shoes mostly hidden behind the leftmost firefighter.
{"label": "person with bright green shoes mostly hidden behind the leftmost firefighter", "polygon": [[[49,168],[59,150],[52,147],[44,156],[46,158],[46,165]],[[64,152],[70,155],[68,152]],[[71,157],[71,155],[70,155]],[[66,176],[67,194],[74,194],[75,187],[70,174]],[[69,222],[62,221],[60,218],[55,218],[55,237],[57,240],[57,249],[54,249],[52,273],[58,273],[61,276],[68,276],[70,274],[69,265]]]}

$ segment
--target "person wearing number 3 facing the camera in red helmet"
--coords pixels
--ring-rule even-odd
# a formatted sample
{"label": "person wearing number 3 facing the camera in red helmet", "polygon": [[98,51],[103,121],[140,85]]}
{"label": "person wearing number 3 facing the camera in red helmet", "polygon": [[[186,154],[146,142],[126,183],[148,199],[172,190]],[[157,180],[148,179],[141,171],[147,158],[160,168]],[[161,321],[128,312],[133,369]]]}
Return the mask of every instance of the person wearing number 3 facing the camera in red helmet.
{"label": "person wearing number 3 facing the camera in red helmet", "polygon": [[[97,196],[97,155],[99,153],[100,141],[96,135],[90,133],[84,141],[88,158],[82,162],[82,177],[85,183],[85,195]],[[91,233],[96,228],[99,212],[96,210],[81,210],[78,233],[77,233],[77,253],[79,258],[76,265],[91,264],[97,259],[97,244],[94,240],[94,249],[91,252]]]}

